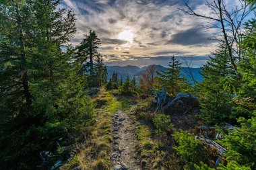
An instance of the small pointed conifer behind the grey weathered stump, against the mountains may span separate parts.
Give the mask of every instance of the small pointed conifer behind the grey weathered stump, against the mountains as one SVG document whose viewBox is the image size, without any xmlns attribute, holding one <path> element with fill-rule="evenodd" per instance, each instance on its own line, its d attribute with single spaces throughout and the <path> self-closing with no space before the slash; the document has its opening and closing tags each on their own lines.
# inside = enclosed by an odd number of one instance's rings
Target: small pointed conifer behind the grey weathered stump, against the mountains
<svg viewBox="0 0 256 170">
<path fill-rule="evenodd" d="M 165 71 L 157 72 L 157 81 L 160 85 L 164 85 L 171 95 L 176 95 L 183 88 L 184 79 L 181 75 L 181 62 L 176 60 L 174 56 L 170 58 L 168 68 Z"/>
</svg>

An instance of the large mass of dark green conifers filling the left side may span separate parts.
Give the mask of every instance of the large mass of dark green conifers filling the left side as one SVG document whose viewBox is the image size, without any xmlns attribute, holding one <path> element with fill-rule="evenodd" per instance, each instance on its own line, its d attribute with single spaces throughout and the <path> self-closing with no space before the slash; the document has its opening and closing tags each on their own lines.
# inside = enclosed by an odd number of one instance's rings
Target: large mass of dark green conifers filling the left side
<svg viewBox="0 0 256 170">
<path fill-rule="evenodd" d="M 0 169 L 51 169 L 93 117 L 68 45 L 75 15 L 59 4 L 1 1 Z M 42 151 L 56 157 L 43 163 Z"/>
</svg>

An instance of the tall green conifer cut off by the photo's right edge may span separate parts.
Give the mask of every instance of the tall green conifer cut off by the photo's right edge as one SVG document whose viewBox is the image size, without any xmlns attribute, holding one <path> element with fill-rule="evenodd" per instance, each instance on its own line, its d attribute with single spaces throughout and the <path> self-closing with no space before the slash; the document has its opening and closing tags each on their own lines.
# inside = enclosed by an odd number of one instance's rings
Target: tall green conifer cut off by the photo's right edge
<svg viewBox="0 0 256 170">
<path fill-rule="evenodd" d="M 234 114 L 251 118 L 256 110 L 256 20 L 245 24 L 246 34 L 243 35 L 241 46 L 245 50 L 245 60 L 238 65 L 238 74 L 241 76 L 241 85 L 236 89 L 236 108 Z M 232 81 L 231 83 L 234 83 Z"/>
</svg>

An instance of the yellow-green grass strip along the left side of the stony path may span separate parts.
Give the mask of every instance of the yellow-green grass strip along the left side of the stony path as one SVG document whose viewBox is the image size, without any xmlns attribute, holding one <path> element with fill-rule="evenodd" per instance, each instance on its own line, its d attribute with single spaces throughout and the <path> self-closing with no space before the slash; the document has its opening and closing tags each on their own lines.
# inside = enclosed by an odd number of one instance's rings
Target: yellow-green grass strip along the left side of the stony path
<svg viewBox="0 0 256 170">
<path fill-rule="evenodd" d="M 105 170 L 110 169 L 110 152 L 113 138 L 112 117 L 121 108 L 121 103 L 113 97 L 109 91 L 101 89 L 98 97 L 93 99 L 96 109 L 94 123 L 86 128 L 88 135 L 85 136 L 86 147 L 82 148 L 69 163 L 61 169 Z"/>
</svg>

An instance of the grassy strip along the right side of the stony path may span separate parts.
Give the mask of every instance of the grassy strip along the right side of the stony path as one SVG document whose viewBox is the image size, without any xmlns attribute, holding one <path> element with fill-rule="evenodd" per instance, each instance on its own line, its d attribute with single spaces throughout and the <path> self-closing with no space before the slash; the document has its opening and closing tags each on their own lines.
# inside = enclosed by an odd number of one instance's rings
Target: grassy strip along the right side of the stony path
<svg viewBox="0 0 256 170">
<path fill-rule="evenodd" d="M 130 117 L 137 122 L 135 134 L 139 140 L 141 166 L 147 169 L 182 169 L 177 155 L 172 153 L 172 142 L 167 140 L 168 136 L 161 136 L 154 130 L 151 103 L 150 98 L 139 99 L 129 110 Z"/>
</svg>

